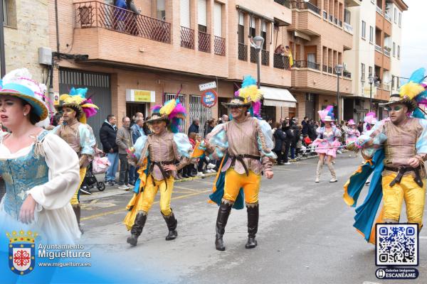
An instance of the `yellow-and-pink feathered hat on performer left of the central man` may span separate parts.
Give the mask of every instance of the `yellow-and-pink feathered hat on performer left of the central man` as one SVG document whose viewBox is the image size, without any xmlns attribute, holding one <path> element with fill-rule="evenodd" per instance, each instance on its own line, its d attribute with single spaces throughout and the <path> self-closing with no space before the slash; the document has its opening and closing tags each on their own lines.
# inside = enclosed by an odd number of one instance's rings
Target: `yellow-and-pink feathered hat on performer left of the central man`
<svg viewBox="0 0 427 284">
<path fill-rule="evenodd" d="M 152 107 L 152 116 L 144 122 L 152 124 L 154 121 L 167 121 L 168 129 L 173 133 L 178 133 L 181 129 L 181 120 L 186 116 L 185 107 L 178 99 L 179 92 L 174 99 L 169 99 L 163 106 Z"/>
</svg>

